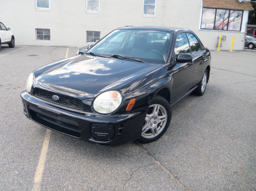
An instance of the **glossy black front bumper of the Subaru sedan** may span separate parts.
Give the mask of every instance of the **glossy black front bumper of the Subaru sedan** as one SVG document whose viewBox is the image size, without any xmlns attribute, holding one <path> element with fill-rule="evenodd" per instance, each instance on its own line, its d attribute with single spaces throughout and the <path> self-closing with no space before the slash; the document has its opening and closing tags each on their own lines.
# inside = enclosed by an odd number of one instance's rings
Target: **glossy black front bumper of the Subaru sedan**
<svg viewBox="0 0 256 191">
<path fill-rule="evenodd" d="M 20 96 L 24 114 L 32 121 L 103 146 L 117 146 L 138 139 L 147 110 L 143 108 L 132 113 L 102 115 L 53 104 L 26 91 Z"/>
</svg>

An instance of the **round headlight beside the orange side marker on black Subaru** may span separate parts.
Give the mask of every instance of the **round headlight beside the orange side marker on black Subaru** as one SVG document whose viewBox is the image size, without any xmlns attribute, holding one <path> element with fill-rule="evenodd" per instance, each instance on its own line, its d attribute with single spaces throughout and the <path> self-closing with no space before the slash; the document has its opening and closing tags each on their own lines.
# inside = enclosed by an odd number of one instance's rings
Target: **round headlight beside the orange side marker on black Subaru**
<svg viewBox="0 0 256 191">
<path fill-rule="evenodd" d="M 98 113 L 109 114 L 116 111 L 121 103 L 122 95 L 118 91 L 106 91 L 95 98 L 93 108 Z"/>
</svg>

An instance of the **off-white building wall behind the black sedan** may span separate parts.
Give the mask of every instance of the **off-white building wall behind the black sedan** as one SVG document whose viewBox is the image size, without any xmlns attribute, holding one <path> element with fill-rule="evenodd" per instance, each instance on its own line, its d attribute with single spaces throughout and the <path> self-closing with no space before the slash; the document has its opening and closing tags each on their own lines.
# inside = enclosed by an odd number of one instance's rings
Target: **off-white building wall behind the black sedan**
<svg viewBox="0 0 256 191">
<path fill-rule="evenodd" d="M 12 10 L 12 11 L 10 11 Z M 199 30 L 202 0 L 157 0 L 156 16 L 143 16 L 143 0 L 101 0 L 100 12 L 86 12 L 86 0 L 51 0 L 50 11 L 36 10 L 35 1 L 0 0 L 0 20 L 12 29 L 17 45 L 84 46 L 86 31 L 100 37 L 122 26 L 169 26 L 193 30 L 202 43 L 216 49 L 218 35 L 226 35 L 221 49 L 243 49 L 248 11 L 242 32 Z M 50 29 L 50 41 L 37 41 L 36 28 Z"/>
</svg>

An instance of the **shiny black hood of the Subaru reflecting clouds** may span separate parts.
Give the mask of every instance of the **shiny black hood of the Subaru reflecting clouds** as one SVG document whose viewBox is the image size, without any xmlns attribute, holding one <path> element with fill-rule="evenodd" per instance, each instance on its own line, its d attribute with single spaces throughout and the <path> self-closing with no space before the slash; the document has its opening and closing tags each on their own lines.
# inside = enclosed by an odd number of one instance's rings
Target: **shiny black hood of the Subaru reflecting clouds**
<svg viewBox="0 0 256 191">
<path fill-rule="evenodd" d="M 160 66 L 81 55 L 39 75 L 34 86 L 80 99 L 94 98 L 107 90 L 119 90 Z"/>
</svg>

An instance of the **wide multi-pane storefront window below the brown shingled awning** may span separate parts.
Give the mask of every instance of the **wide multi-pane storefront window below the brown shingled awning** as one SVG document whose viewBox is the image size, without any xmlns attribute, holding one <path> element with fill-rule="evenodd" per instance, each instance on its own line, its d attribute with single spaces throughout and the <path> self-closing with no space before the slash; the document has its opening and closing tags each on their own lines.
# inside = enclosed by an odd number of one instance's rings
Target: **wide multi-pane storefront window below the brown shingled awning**
<svg viewBox="0 0 256 191">
<path fill-rule="evenodd" d="M 241 31 L 243 11 L 203 8 L 201 29 Z"/>
</svg>

